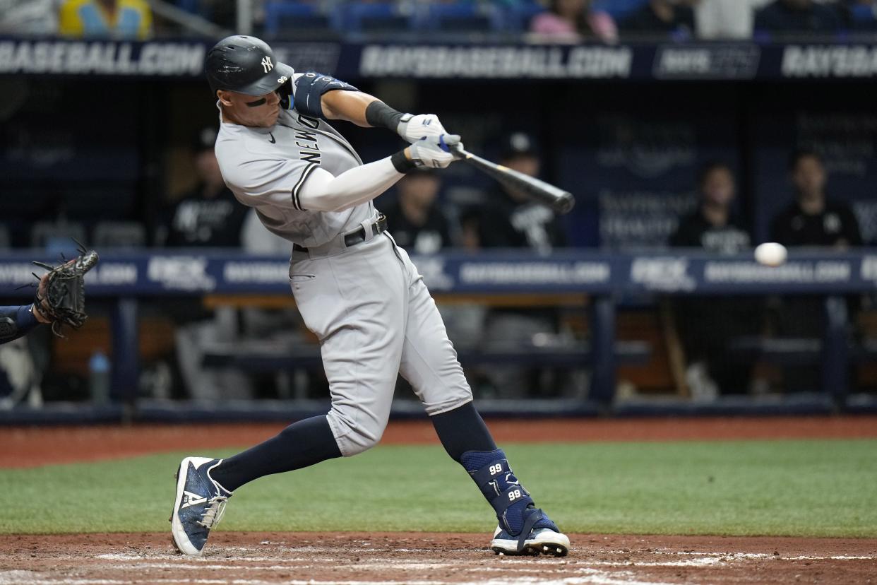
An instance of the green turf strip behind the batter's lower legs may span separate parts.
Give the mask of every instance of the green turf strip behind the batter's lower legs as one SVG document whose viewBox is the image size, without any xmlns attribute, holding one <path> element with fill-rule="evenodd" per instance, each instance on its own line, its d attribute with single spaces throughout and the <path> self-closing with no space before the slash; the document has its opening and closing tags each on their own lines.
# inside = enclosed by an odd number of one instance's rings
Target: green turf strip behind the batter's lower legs
<svg viewBox="0 0 877 585">
<path fill-rule="evenodd" d="M 570 532 L 877 537 L 877 440 L 511 445 Z M 217 453 L 217 454 L 230 454 Z M 0 533 L 165 531 L 180 454 L 0 470 Z M 262 478 L 226 531 L 490 531 L 438 446 L 381 446 Z"/>
</svg>

